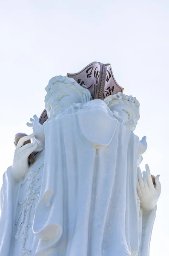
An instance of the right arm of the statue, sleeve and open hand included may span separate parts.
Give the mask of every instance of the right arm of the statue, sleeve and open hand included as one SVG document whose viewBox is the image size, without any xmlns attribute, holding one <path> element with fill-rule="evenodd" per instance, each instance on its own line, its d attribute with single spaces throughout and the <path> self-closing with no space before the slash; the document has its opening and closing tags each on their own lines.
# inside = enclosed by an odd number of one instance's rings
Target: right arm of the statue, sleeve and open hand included
<svg viewBox="0 0 169 256">
<path fill-rule="evenodd" d="M 149 246 L 152 235 L 152 228 L 155 221 L 157 201 L 160 196 L 159 175 L 155 177 L 155 185 L 149 166 L 146 165 L 146 171 L 137 170 L 137 194 L 140 199 L 140 221 L 139 221 L 139 256 L 149 256 Z"/>
</svg>

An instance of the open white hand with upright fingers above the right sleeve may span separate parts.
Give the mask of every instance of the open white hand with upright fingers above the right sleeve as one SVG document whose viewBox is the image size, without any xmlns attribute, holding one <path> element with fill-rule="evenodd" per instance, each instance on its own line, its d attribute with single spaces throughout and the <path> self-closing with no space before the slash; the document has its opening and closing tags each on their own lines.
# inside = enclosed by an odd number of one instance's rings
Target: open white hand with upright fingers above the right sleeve
<svg viewBox="0 0 169 256">
<path fill-rule="evenodd" d="M 143 172 L 143 177 L 140 168 L 137 169 L 137 194 L 140 199 L 140 206 L 146 211 L 151 211 L 155 208 L 161 192 L 159 176 L 155 177 L 155 186 L 152 182 L 149 166 L 146 164 L 146 171 Z"/>
</svg>

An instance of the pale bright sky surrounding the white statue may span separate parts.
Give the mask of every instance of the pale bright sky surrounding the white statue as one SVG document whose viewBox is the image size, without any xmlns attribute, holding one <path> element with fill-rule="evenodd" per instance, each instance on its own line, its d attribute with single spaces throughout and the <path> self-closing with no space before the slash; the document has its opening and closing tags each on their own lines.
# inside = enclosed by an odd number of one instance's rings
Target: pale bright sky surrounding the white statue
<svg viewBox="0 0 169 256">
<path fill-rule="evenodd" d="M 168 48 L 168 0 L 0 0 L 0 185 L 15 134 L 32 133 L 26 122 L 44 109 L 49 79 L 109 62 L 124 93 L 140 102 L 143 164 L 162 185 L 150 256 L 168 255 Z"/>
</svg>

